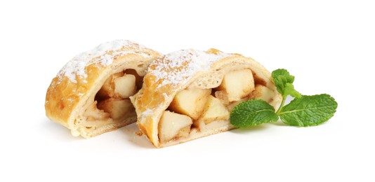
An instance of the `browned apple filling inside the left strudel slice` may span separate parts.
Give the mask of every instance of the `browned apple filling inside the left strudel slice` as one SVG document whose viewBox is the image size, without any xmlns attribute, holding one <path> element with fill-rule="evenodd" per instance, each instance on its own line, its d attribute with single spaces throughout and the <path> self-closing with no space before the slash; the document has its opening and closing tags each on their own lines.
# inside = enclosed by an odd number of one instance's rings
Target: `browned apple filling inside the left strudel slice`
<svg viewBox="0 0 375 182">
<path fill-rule="evenodd" d="M 142 81 L 143 77 L 139 76 L 134 69 L 112 74 L 105 80 L 94 102 L 86 109 L 82 117 L 86 118 L 87 122 L 82 122 L 81 125 L 86 129 L 111 124 L 121 125 L 126 118 L 136 116 L 129 97 L 136 94 L 142 86 Z"/>
</svg>

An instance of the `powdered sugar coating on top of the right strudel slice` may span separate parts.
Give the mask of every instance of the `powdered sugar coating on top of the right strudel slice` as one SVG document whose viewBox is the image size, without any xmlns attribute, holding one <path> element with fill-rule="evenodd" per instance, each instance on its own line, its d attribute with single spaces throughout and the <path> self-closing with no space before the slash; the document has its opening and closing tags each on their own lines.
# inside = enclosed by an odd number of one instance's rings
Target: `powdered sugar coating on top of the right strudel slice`
<svg viewBox="0 0 375 182">
<path fill-rule="evenodd" d="M 171 52 L 161 62 L 157 62 L 154 70 L 150 70 L 157 80 L 163 79 L 159 85 L 178 85 L 195 75 L 198 71 L 208 70 L 214 62 L 231 54 L 220 52 L 218 55 L 209 54 L 202 50 L 178 50 Z"/>
</svg>

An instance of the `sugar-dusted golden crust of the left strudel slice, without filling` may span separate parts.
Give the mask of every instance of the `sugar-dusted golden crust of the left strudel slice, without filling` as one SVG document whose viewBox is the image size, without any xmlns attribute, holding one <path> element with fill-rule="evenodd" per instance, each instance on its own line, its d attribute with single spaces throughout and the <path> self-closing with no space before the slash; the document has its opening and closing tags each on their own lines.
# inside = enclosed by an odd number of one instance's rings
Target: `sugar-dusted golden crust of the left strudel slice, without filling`
<svg viewBox="0 0 375 182">
<path fill-rule="evenodd" d="M 95 56 L 93 56 L 95 55 Z M 134 69 L 140 76 L 145 75 L 148 64 L 159 56 L 158 52 L 131 41 L 112 41 L 83 52 L 53 78 L 46 93 L 46 116 L 72 131 L 74 136 L 93 137 L 103 132 L 115 130 L 135 120 L 126 118 L 124 122 L 103 126 L 98 130 L 80 130 L 77 117 L 82 114 L 100 90 L 105 80 L 118 71 Z M 83 65 L 82 65 L 83 64 Z"/>
</svg>

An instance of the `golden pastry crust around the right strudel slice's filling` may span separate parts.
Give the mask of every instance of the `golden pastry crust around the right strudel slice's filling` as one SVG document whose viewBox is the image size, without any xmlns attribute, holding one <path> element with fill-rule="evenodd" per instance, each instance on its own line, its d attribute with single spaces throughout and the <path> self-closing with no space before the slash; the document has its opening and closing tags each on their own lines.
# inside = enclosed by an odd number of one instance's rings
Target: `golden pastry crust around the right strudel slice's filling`
<svg viewBox="0 0 375 182">
<path fill-rule="evenodd" d="M 237 69 L 251 69 L 258 83 L 275 91 L 270 104 L 277 106 L 281 96 L 276 91 L 271 74 L 261 64 L 249 57 L 239 54 L 226 54 L 211 49 L 206 52 L 199 50 L 180 50 L 164 57 L 159 57 L 150 64 L 144 78 L 143 88 L 131 97 L 131 102 L 138 115 L 138 127 L 146 134 L 152 144 L 157 147 L 179 144 L 199 137 L 204 137 L 234 128 L 228 120 L 206 131 L 192 130 L 189 137 L 169 141 L 166 144 L 159 142 L 157 125 L 173 97 L 186 87 L 202 89 L 218 87 L 223 76 L 228 71 Z"/>
</svg>

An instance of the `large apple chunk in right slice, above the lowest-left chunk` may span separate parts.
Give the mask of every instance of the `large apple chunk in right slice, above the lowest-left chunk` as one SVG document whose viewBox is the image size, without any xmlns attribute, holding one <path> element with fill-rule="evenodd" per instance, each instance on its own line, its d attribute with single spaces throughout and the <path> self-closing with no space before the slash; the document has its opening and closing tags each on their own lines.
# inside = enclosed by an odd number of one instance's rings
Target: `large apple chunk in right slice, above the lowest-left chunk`
<svg viewBox="0 0 375 182">
<path fill-rule="evenodd" d="M 211 89 L 190 88 L 176 94 L 169 109 L 197 120 L 202 114 Z"/>
</svg>

